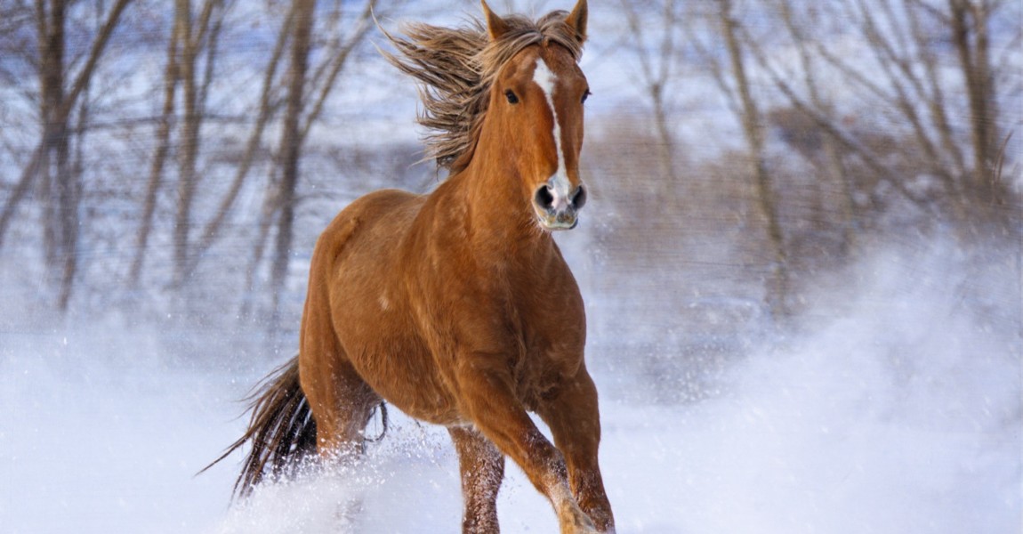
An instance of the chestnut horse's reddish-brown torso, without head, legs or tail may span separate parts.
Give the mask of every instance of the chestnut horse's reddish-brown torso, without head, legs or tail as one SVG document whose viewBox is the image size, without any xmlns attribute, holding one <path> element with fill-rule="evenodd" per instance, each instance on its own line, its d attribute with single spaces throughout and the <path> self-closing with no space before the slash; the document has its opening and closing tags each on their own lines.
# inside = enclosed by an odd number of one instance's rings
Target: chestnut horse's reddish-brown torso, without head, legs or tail
<svg viewBox="0 0 1023 534">
<path fill-rule="evenodd" d="M 458 402 L 463 355 L 506 372 L 532 410 L 579 371 L 582 299 L 557 244 L 528 224 L 500 234 L 476 224 L 458 184 L 474 180 L 488 181 L 466 171 L 430 197 L 379 191 L 335 219 L 313 256 L 303 368 L 350 364 L 392 405 L 446 426 L 473 420 Z M 337 345 L 322 347 L 324 338 Z M 302 379 L 307 392 L 335 389 L 329 374 Z M 314 413 L 326 411 L 309 396 Z"/>
</svg>

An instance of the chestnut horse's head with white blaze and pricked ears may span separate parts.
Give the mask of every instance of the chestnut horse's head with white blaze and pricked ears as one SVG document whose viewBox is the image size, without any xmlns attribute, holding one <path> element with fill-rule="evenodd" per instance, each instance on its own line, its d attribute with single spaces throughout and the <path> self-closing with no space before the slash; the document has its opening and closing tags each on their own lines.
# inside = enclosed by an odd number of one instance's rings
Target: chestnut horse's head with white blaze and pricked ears
<svg viewBox="0 0 1023 534">
<path fill-rule="evenodd" d="M 514 24 L 483 2 L 492 43 L 514 41 Z M 545 230 L 574 228 L 586 203 L 579 177 L 583 141 L 583 102 L 589 95 L 577 64 L 586 38 L 586 0 L 570 13 L 557 13 L 564 25 L 555 35 L 530 44 L 504 60 L 490 90 L 484 136 L 508 154 L 521 192 Z M 487 129 L 493 129 L 486 132 Z M 489 133 L 489 135 L 488 135 Z"/>
</svg>

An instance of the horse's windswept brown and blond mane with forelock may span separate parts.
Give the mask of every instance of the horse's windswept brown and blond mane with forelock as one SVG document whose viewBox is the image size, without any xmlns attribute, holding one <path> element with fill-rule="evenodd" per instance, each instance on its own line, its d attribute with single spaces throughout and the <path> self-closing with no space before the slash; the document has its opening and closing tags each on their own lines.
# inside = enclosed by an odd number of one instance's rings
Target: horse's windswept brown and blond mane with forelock
<svg viewBox="0 0 1023 534">
<path fill-rule="evenodd" d="M 536 21 L 507 16 L 508 31 L 493 41 L 479 19 L 462 28 L 409 24 L 402 30 L 404 38 L 385 32 L 402 56 L 383 52 L 384 56 L 420 84 L 424 107 L 417 122 L 430 131 L 424 138 L 424 160 L 435 160 L 438 168 L 450 174 L 469 165 L 493 80 L 523 48 L 554 43 L 579 60 L 584 36 L 566 24 L 567 15 L 567 11 L 552 11 Z"/>
</svg>

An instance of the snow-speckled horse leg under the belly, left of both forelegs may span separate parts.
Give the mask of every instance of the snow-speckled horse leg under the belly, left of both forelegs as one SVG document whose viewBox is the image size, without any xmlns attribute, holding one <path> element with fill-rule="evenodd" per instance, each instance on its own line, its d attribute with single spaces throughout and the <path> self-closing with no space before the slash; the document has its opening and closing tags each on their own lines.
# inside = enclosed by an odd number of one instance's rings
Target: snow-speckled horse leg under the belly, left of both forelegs
<svg viewBox="0 0 1023 534">
<path fill-rule="evenodd" d="M 475 430 L 448 428 L 461 472 L 461 493 L 464 513 L 462 534 L 499 532 L 497 526 L 497 490 L 504 478 L 504 455 Z"/>
</svg>

